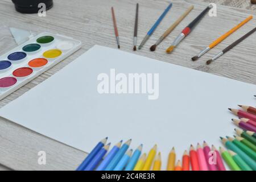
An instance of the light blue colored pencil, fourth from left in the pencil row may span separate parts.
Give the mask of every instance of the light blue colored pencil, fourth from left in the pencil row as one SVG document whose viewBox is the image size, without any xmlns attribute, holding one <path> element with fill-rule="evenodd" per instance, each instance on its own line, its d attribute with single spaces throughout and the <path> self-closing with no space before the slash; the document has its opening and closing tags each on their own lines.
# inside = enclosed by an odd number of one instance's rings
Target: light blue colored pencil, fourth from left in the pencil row
<svg viewBox="0 0 256 182">
<path fill-rule="evenodd" d="M 112 161 L 109 163 L 109 165 L 106 167 L 105 171 L 112 171 L 115 166 L 117 166 L 117 163 L 119 162 L 119 160 L 121 160 L 122 156 L 125 155 L 125 152 L 127 151 L 127 149 L 129 148 L 131 144 L 131 139 L 128 140 L 127 142 L 125 142 L 122 147 L 120 148 L 120 150 L 117 152 L 117 154 L 114 156 L 114 158 L 112 159 Z"/>
</svg>

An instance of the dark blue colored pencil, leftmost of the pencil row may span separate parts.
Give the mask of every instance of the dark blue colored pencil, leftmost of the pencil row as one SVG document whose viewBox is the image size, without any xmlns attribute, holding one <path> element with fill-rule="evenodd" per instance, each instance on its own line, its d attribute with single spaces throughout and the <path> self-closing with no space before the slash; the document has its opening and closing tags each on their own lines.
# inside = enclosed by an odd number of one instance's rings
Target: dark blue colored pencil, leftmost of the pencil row
<svg viewBox="0 0 256 182">
<path fill-rule="evenodd" d="M 84 170 L 88 164 L 92 161 L 94 156 L 101 150 L 101 148 L 106 144 L 106 141 L 108 140 L 108 137 L 102 139 L 98 144 L 93 148 L 92 151 L 90 151 L 90 154 L 85 158 L 85 160 L 80 164 L 80 166 L 76 169 L 76 171 L 82 171 Z"/>
</svg>

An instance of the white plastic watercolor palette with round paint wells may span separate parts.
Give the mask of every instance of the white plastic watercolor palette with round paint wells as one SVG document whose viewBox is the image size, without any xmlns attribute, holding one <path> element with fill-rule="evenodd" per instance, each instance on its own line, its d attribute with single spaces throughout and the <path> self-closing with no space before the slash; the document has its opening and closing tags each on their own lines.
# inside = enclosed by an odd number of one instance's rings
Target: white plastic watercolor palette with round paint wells
<svg viewBox="0 0 256 182">
<path fill-rule="evenodd" d="M 0 100 L 81 48 L 81 42 L 44 32 L 0 56 Z"/>
</svg>

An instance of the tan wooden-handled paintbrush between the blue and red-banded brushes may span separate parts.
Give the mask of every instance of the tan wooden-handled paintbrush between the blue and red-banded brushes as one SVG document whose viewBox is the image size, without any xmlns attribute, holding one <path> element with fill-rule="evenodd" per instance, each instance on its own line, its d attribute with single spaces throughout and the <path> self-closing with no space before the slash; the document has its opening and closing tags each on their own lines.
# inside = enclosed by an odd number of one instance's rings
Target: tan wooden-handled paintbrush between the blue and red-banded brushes
<svg viewBox="0 0 256 182">
<path fill-rule="evenodd" d="M 194 6 L 190 6 L 183 15 L 181 15 L 174 24 L 172 24 L 164 33 L 162 36 L 160 36 L 160 38 L 158 39 L 158 41 L 156 41 L 156 43 L 150 47 L 150 51 L 155 51 L 156 47 L 169 35 L 171 34 L 171 32 L 174 30 L 174 28 L 176 28 L 180 22 L 193 10 Z"/>
</svg>

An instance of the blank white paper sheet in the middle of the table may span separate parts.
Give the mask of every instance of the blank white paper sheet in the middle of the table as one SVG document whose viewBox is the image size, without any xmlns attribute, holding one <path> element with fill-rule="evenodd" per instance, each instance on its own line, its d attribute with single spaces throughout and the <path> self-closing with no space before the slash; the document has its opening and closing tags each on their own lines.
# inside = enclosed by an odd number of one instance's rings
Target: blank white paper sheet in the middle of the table
<svg viewBox="0 0 256 182">
<path fill-rule="evenodd" d="M 170 56 L 171 57 L 171 56 Z M 159 97 L 100 94 L 98 75 L 158 73 Z M 118 82 L 118 81 L 117 81 Z M 162 152 L 163 169 L 174 146 L 177 159 L 203 140 L 222 146 L 233 136 L 228 107 L 255 105 L 256 86 L 117 49 L 94 46 L 52 77 L 0 109 L 0 115 L 52 139 L 89 152 L 109 137 L 112 146 L 132 138 Z"/>
</svg>

